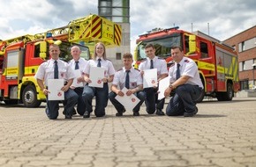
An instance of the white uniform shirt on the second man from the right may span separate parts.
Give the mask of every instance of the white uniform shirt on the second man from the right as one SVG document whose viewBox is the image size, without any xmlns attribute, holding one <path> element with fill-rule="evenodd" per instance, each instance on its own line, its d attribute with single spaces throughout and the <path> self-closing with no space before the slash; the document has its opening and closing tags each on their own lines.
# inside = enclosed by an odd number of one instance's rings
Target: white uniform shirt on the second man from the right
<svg viewBox="0 0 256 167">
<path fill-rule="evenodd" d="M 154 69 L 157 69 L 157 78 L 162 74 L 168 74 L 167 64 L 164 59 L 154 56 L 153 59 Z M 139 70 L 143 71 L 150 69 L 150 59 L 147 57 L 146 61 L 140 62 Z"/>
</svg>

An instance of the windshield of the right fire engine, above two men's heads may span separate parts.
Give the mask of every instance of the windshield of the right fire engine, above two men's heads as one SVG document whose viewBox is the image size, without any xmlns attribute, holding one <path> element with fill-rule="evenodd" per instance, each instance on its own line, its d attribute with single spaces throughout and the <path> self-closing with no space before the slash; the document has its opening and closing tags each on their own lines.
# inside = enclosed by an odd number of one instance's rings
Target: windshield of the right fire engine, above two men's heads
<svg viewBox="0 0 256 167">
<path fill-rule="evenodd" d="M 175 34 L 172 36 L 168 36 L 166 38 L 155 38 L 153 40 L 142 41 L 137 50 L 138 60 L 142 60 L 147 58 L 147 54 L 145 53 L 145 46 L 148 43 L 154 44 L 155 55 L 166 58 L 170 55 L 170 48 L 174 46 L 181 46 L 181 36 L 180 34 Z"/>
</svg>

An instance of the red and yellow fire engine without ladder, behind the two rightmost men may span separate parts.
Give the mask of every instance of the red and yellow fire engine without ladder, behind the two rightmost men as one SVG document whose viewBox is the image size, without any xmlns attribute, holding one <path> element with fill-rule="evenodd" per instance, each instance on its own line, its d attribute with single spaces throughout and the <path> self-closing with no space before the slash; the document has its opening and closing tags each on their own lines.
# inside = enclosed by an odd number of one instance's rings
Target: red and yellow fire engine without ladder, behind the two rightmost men
<svg viewBox="0 0 256 167">
<path fill-rule="evenodd" d="M 204 84 L 204 96 L 229 101 L 239 91 L 237 53 L 215 38 L 205 33 L 189 33 L 178 27 L 157 29 L 157 31 L 139 35 L 134 53 L 134 67 L 147 58 L 145 46 L 153 43 L 155 54 L 164 58 L 168 67 L 173 63 L 170 48 L 179 46 L 184 55 L 192 58 L 198 65 L 200 78 Z M 204 96 L 198 101 L 202 101 Z"/>
</svg>

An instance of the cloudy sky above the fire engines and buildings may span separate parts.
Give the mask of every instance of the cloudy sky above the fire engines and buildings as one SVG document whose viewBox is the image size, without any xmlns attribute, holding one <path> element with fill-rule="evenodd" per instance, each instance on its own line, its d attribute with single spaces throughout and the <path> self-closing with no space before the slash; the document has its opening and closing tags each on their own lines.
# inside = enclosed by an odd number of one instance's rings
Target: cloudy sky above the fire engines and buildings
<svg viewBox="0 0 256 167">
<path fill-rule="evenodd" d="M 0 6 L 0 40 L 98 13 L 98 0 L 0 0 Z M 256 25 L 255 9 L 255 0 L 130 0 L 131 52 L 139 34 L 154 28 L 179 26 L 227 40 Z"/>
</svg>

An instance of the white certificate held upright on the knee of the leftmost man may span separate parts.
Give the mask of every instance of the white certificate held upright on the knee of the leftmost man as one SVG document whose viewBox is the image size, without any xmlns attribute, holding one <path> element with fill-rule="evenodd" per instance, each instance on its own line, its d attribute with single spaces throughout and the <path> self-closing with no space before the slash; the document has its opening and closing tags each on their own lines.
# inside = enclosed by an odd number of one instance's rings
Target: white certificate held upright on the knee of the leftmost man
<svg viewBox="0 0 256 167">
<path fill-rule="evenodd" d="M 48 80 L 48 100 L 64 100 L 64 91 L 61 88 L 64 86 L 64 79 L 49 79 Z"/>
</svg>

